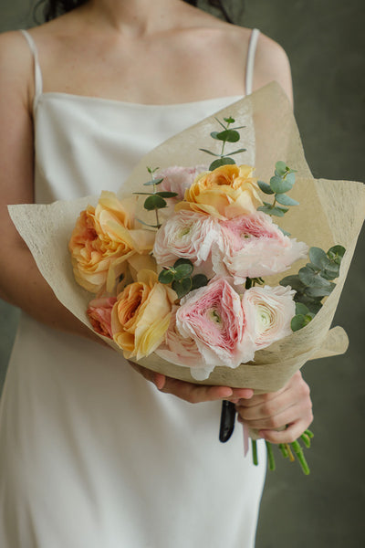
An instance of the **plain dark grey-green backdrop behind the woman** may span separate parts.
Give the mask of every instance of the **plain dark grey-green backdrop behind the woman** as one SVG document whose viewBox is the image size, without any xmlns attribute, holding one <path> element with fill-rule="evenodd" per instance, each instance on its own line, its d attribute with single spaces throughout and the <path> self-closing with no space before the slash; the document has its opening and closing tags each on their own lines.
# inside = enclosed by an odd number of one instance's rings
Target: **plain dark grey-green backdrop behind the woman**
<svg viewBox="0 0 365 548">
<path fill-rule="evenodd" d="M 297 123 L 313 174 L 364 181 L 363 0 L 247 0 L 244 12 L 242 0 L 225 4 L 240 24 L 258 27 L 286 49 Z M 1 0 L 0 31 L 33 25 L 29 5 L 31 0 Z M 276 458 L 276 472 L 266 481 L 256 548 L 363 545 L 364 243 L 363 234 L 334 321 L 349 333 L 349 351 L 304 368 L 315 412 L 315 439 L 307 453 L 311 475 Z M 17 315 L 0 301 L 0 380 Z"/>
</svg>

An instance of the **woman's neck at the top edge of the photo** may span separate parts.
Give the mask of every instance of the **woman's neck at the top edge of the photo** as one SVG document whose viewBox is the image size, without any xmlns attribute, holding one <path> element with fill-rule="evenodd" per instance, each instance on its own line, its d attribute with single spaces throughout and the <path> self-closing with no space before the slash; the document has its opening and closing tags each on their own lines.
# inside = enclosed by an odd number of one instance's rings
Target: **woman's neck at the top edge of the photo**
<svg viewBox="0 0 365 548">
<path fill-rule="evenodd" d="M 126 36 L 142 36 L 168 26 L 184 6 L 181 0 L 89 0 L 85 10 L 98 25 Z"/>
</svg>

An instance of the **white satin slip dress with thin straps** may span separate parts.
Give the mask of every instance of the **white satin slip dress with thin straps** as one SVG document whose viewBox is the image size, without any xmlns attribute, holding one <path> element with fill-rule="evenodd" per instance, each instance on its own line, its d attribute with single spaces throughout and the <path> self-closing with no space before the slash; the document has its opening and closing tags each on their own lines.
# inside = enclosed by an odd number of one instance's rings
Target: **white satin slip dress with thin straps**
<svg viewBox="0 0 365 548">
<path fill-rule="evenodd" d="M 26 38 L 38 203 L 118 190 L 144 153 L 237 99 L 43 93 Z M 252 547 L 266 458 L 244 457 L 240 427 L 218 441 L 220 411 L 162 394 L 120 355 L 23 313 L 1 404 L 0 546 Z"/>
</svg>

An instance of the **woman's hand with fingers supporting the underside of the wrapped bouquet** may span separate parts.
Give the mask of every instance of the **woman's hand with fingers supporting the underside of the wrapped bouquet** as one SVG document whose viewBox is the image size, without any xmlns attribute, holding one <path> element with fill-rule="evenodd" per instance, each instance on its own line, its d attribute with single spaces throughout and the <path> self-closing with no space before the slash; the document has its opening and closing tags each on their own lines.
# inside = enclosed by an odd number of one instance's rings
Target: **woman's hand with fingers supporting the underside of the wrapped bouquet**
<svg viewBox="0 0 365 548">
<path fill-rule="evenodd" d="M 161 392 L 176 395 L 191 404 L 224 399 L 239 400 L 240 402 L 243 402 L 246 398 L 250 398 L 254 395 L 254 391 L 251 390 L 251 388 L 193 385 L 193 383 L 179 381 L 178 379 L 172 379 L 164 374 L 155 373 L 145 367 L 141 367 L 141 365 L 133 364 L 132 362 L 129 363 L 133 369 L 140 373 L 145 379 L 151 381 L 151 383 L 153 383 Z"/>
</svg>

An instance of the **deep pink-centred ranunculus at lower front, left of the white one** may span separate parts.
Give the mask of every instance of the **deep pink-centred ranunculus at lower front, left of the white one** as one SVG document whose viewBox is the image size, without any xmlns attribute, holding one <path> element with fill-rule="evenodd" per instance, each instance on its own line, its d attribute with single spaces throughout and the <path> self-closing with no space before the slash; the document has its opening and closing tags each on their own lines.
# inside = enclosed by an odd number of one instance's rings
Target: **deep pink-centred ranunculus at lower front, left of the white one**
<svg viewBox="0 0 365 548">
<path fill-rule="evenodd" d="M 207 375 L 216 365 L 235 368 L 254 358 L 253 343 L 245 333 L 240 296 L 227 279 L 213 279 L 188 293 L 176 312 L 176 326 L 184 337 L 196 342 Z"/>
</svg>

